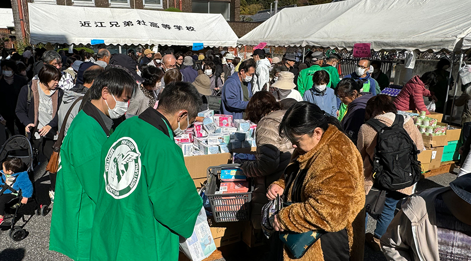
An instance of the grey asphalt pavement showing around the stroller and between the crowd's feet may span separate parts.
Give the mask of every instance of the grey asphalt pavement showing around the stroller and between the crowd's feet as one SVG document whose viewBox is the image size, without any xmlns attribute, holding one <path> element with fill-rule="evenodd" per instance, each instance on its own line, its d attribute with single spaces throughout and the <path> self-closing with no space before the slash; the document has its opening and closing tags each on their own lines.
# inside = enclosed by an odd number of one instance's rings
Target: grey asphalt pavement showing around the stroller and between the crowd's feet
<svg viewBox="0 0 471 261">
<path fill-rule="evenodd" d="M 49 208 L 52 208 L 53 204 L 49 199 L 48 191 L 50 188 L 49 176 L 45 175 L 45 159 L 42 160 L 42 164 L 35 168 L 35 185 L 37 186 L 38 200 L 40 204 L 48 204 Z M 457 170 L 455 169 L 455 172 Z M 422 179 L 416 186 L 416 191 L 422 191 L 428 188 L 447 186 L 449 182 L 453 181 L 456 175 L 453 173 L 445 173 L 435 177 Z M 66 255 L 49 250 L 49 232 L 51 224 L 51 214 L 46 216 L 38 216 L 34 213 L 34 203 L 30 202 L 26 206 L 22 207 L 20 214 L 24 215 L 26 223 L 23 220 L 17 222 L 18 226 L 22 226 L 27 230 L 27 236 L 22 241 L 16 242 L 10 238 L 10 230 L 6 230 L 2 227 L 0 230 L 0 260 L 2 261 L 38 261 L 38 260 L 72 260 Z M 369 217 L 368 225 L 366 228 L 367 232 L 373 232 L 376 221 Z M 241 242 L 242 243 L 242 242 Z M 243 244 L 243 243 L 242 243 Z M 246 260 L 257 260 L 261 261 L 265 259 L 266 252 L 254 253 L 247 247 L 247 252 L 251 252 L 247 255 L 241 255 L 239 252 L 234 256 L 224 256 L 219 261 L 246 261 Z M 249 257 L 249 258 L 247 258 Z M 374 252 L 368 246 L 365 246 L 365 261 L 385 261 L 381 252 Z"/>
</svg>

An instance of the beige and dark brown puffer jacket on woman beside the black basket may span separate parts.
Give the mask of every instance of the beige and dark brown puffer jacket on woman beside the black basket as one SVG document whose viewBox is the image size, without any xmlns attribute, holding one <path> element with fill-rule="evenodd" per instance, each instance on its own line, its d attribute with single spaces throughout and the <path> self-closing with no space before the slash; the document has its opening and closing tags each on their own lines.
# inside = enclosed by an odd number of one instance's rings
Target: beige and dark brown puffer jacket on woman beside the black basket
<svg viewBox="0 0 471 261">
<path fill-rule="evenodd" d="M 267 188 L 280 179 L 290 163 L 294 149 L 287 138 L 281 138 L 278 127 L 286 110 L 277 110 L 263 117 L 257 124 L 257 160 L 246 161 L 242 170 L 247 177 L 254 178 L 255 190 L 252 194 L 252 224 L 260 229 L 262 207 L 268 203 Z"/>
</svg>

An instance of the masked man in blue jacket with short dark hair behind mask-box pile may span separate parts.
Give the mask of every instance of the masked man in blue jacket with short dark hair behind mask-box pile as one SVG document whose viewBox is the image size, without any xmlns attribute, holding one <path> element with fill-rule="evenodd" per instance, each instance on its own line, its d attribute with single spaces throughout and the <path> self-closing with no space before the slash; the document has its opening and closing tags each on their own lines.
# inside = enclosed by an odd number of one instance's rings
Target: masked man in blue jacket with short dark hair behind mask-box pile
<svg viewBox="0 0 471 261">
<path fill-rule="evenodd" d="M 257 64 L 254 59 L 241 63 L 237 74 L 232 74 L 222 87 L 221 109 L 222 114 L 232 115 L 233 119 L 244 118 L 244 112 L 252 97 L 250 81 L 255 73 Z"/>
</svg>

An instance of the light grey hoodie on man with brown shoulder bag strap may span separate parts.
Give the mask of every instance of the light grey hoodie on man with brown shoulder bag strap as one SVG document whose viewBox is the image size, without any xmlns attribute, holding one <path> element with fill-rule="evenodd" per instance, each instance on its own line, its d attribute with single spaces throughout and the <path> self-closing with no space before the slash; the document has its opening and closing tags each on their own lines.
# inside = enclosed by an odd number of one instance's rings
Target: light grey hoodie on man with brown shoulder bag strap
<svg viewBox="0 0 471 261">
<path fill-rule="evenodd" d="M 64 122 L 64 118 L 67 114 L 67 111 L 69 110 L 70 106 L 72 106 L 72 103 L 79 98 L 83 97 L 85 93 L 88 91 L 88 88 L 83 86 L 80 83 L 77 83 L 72 89 L 64 91 L 64 96 L 62 98 L 62 104 L 59 107 L 58 111 L 58 118 L 59 118 L 59 124 L 58 124 L 58 129 L 59 131 L 61 130 L 62 123 Z M 69 119 L 66 122 L 66 128 L 64 132 L 64 136 L 67 134 L 67 130 L 69 129 L 70 123 L 72 123 L 72 120 L 77 116 L 77 113 L 79 113 L 79 107 L 82 101 L 77 102 L 77 104 L 74 106 L 72 111 L 70 112 Z"/>
</svg>

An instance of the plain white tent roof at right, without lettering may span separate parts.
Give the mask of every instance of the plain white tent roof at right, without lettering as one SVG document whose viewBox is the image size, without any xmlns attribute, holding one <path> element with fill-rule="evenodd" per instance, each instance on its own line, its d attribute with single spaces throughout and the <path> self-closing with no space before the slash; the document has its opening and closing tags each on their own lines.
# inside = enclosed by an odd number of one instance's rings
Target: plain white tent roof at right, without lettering
<svg viewBox="0 0 471 261">
<path fill-rule="evenodd" d="M 453 50 L 471 33 L 471 1 L 350 0 L 287 8 L 239 39 L 243 45 Z M 471 42 L 471 41 L 470 41 Z"/>
</svg>

